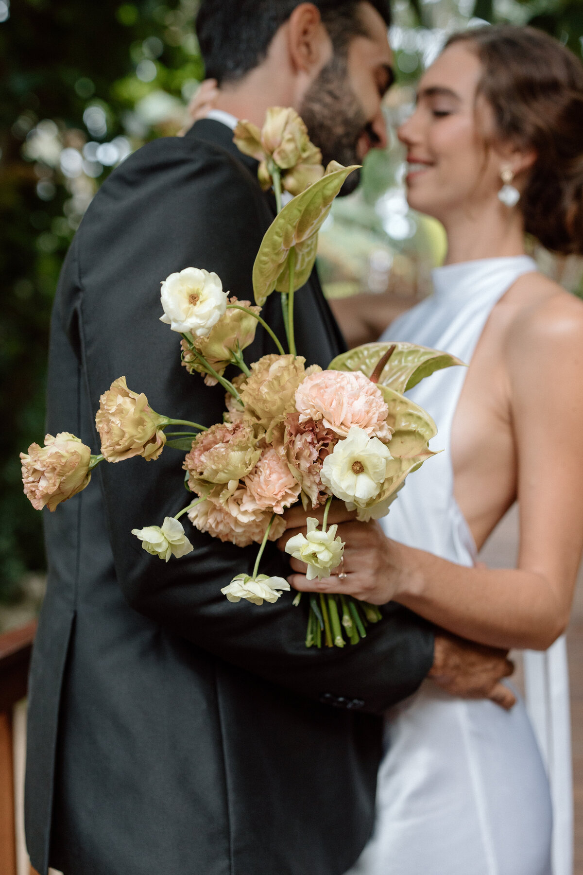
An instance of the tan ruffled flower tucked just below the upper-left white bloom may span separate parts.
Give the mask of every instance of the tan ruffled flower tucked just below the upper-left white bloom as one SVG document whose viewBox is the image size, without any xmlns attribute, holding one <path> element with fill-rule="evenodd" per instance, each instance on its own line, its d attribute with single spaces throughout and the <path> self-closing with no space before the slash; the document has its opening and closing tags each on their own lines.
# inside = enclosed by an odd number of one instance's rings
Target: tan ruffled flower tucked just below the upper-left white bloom
<svg viewBox="0 0 583 875">
<path fill-rule="evenodd" d="M 222 376 L 226 367 L 233 362 L 234 353 L 253 343 L 258 322 L 251 313 L 259 316 L 261 311 L 260 307 L 252 306 L 251 301 L 238 301 L 234 296 L 228 299 L 228 303 L 245 307 L 247 312 L 227 309 L 219 322 L 213 325 L 210 334 L 206 337 L 194 338 L 194 346 L 198 353 L 208 361 L 219 376 Z M 206 385 L 216 386 L 216 377 L 206 372 L 204 363 L 192 352 L 186 340 L 182 339 L 180 346 L 182 346 L 182 363 L 188 373 L 198 371 L 198 374 L 205 374 Z"/>
</svg>

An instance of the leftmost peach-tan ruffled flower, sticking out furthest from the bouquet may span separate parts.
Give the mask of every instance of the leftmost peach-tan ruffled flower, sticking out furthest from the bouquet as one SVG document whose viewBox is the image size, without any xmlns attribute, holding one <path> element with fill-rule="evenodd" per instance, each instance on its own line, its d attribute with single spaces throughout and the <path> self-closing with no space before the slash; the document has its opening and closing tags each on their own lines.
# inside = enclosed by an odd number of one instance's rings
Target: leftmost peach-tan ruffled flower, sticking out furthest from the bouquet
<svg viewBox="0 0 583 875">
<path fill-rule="evenodd" d="M 35 510 L 54 510 L 61 501 L 85 489 L 91 479 L 91 450 L 68 431 L 45 435 L 45 446 L 31 444 L 21 452 L 24 494 Z"/>
</svg>

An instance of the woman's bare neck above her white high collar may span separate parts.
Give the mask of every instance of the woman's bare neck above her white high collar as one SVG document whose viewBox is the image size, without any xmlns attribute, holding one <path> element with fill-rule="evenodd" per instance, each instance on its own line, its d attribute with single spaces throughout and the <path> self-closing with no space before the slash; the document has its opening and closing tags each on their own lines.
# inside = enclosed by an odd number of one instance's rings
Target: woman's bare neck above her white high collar
<svg viewBox="0 0 583 875">
<path fill-rule="evenodd" d="M 448 235 L 446 264 L 524 255 L 524 220 L 499 200 L 453 211 L 441 220 Z"/>
</svg>

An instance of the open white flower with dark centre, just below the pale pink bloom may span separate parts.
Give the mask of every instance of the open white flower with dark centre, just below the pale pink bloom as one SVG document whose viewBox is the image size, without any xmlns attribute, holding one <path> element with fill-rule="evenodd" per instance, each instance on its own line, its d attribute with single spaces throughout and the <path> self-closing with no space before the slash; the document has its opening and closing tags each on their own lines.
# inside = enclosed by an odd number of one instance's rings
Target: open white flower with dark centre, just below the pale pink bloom
<svg viewBox="0 0 583 875">
<path fill-rule="evenodd" d="M 364 507 L 380 492 L 392 456 L 378 437 L 352 426 L 323 461 L 321 478 L 337 498 Z"/>
</svg>

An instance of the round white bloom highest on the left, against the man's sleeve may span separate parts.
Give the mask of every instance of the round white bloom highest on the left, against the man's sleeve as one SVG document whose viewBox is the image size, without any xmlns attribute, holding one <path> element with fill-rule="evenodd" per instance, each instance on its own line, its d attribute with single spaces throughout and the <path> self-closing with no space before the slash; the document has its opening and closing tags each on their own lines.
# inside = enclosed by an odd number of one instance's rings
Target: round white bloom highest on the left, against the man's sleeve
<svg viewBox="0 0 583 875">
<path fill-rule="evenodd" d="M 160 300 L 164 311 L 160 321 L 172 331 L 206 337 L 225 314 L 227 295 L 217 274 L 184 268 L 163 280 Z"/>
</svg>

